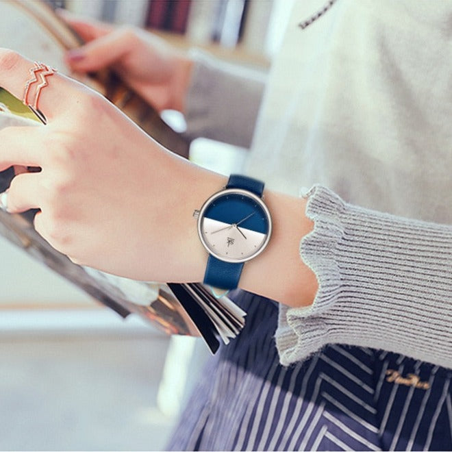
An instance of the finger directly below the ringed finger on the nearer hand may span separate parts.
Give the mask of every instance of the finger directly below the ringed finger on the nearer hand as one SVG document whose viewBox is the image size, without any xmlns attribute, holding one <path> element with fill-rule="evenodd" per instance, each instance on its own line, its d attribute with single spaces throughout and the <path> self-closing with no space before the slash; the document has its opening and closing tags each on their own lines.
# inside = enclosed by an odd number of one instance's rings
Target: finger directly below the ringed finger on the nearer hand
<svg viewBox="0 0 452 452">
<path fill-rule="evenodd" d="M 0 171 L 14 165 L 42 166 L 36 127 L 5 127 L 0 130 Z"/>
</svg>

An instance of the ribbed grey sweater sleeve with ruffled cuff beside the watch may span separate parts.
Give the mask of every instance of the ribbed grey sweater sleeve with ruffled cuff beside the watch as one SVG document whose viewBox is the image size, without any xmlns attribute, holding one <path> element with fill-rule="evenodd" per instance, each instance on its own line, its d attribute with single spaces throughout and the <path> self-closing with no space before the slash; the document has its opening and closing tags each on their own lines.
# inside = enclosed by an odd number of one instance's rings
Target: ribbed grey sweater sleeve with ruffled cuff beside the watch
<svg viewBox="0 0 452 452">
<path fill-rule="evenodd" d="M 310 307 L 280 307 L 281 364 L 336 343 L 452 368 L 452 227 L 359 208 L 322 186 L 306 196 L 314 229 L 300 253 L 318 293 Z"/>
</svg>

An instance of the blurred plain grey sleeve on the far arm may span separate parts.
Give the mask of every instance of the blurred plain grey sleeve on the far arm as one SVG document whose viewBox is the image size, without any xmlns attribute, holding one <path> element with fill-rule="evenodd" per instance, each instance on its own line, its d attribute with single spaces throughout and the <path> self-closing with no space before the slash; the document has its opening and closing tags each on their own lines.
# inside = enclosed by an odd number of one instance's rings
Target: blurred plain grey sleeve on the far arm
<svg viewBox="0 0 452 452">
<path fill-rule="evenodd" d="M 262 95 L 265 75 L 225 64 L 193 52 L 194 64 L 184 101 L 186 136 L 200 136 L 248 148 Z"/>
</svg>

